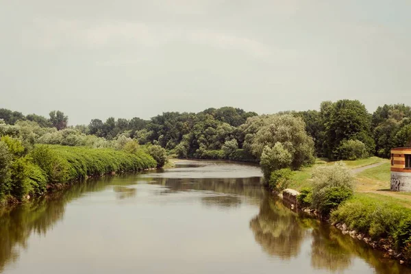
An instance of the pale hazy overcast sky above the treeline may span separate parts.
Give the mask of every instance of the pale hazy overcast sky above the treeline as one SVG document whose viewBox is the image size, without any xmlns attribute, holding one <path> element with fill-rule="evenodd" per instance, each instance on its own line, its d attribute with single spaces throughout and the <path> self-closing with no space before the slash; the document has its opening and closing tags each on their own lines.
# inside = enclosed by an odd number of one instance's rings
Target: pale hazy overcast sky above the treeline
<svg viewBox="0 0 411 274">
<path fill-rule="evenodd" d="M 411 105 L 408 0 L 0 0 L 0 108 L 69 124 Z"/>
</svg>

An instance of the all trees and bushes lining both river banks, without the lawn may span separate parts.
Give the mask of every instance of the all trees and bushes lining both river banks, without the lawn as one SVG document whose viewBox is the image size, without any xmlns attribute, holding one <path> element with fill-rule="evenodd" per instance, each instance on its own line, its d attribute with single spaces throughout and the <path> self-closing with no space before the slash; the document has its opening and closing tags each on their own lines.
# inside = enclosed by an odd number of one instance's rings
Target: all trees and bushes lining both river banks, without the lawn
<svg viewBox="0 0 411 274">
<path fill-rule="evenodd" d="M 319 111 L 258 116 L 224 107 L 197 114 L 164 112 L 149 121 L 92 119 L 89 125 L 72 127 L 63 112 L 53 111 L 49 116 L 0 110 L 1 199 L 24 200 L 55 184 L 91 175 L 161 167 L 166 151 L 178 158 L 259 162 L 264 183 L 281 191 L 292 184 L 296 171 L 312 166 L 316 156 L 329 160 L 388 158 L 391 148 L 411 145 L 409 106 L 384 105 L 370 114 L 356 100 L 325 101 Z M 371 197 L 360 199 L 345 166 L 320 167 L 307 185 L 300 199 L 308 206 L 370 236 L 393 237 L 397 249 L 409 252 L 411 226 L 402 218 L 406 209 L 393 203 L 382 205 L 381 210 L 377 200 L 374 204 Z M 352 205 L 364 209 L 354 221 L 347 214 Z M 376 214 L 379 219 L 374 218 Z M 388 214 L 394 220 L 389 229 L 382 223 Z M 374 223 L 366 221 L 370 219 Z"/>
</svg>

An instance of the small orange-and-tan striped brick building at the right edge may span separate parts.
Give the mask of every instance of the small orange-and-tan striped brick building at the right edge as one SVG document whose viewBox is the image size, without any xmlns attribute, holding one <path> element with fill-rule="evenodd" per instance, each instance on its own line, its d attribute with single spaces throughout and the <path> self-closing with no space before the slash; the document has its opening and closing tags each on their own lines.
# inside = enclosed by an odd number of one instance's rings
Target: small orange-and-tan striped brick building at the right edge
<svg viewBox="0 0 411 274">
<path fill-rule="evenodd" d="M 411 147 L 391 149 L 391 190 L 411 192 Z"/>
</svg>

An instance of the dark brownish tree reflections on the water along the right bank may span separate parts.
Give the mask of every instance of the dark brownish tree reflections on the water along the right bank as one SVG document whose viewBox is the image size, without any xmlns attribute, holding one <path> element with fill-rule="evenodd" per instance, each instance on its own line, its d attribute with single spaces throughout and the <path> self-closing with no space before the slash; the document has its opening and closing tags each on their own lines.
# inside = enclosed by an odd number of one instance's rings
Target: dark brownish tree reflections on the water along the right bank
<svg viewBox="0 0 411 274">
<path fill-rule="evenodd" d="M 249 225 L 262 249 L 269 256 L 282 260 L 296 258 L 303 252 L 310 254 L 313 269 L 328 273 L 342 273 L 349 269 L 354 258 L 362 258 L 375 273 L 411 273 L 410 269 L 384 259 L 379 251 L 343 235 L 335 227 L 292 212 L 271 195 L 262 199 L 260 212 Z M 307 237 L 312 238 L 311 245 L 301 250 Z"/>
</svg>

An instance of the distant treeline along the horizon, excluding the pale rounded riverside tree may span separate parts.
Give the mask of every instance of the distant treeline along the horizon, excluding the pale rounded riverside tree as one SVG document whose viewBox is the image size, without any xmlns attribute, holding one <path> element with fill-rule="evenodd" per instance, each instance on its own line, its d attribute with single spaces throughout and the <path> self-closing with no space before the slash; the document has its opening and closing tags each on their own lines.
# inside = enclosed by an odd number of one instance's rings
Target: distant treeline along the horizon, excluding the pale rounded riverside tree
<svg viewBox="0 0 411 274">
<path fill-rule="evenodd" d="M 277 114 L 290 114 L 303 120 L 319 157 L 352 158 L 347 154 L 355 149 L 356 153 L 388 158 L 391 148 L 411 145 L 411 108 L 404 104 L 379 106 L 370 114 L 360 101 L 324 101 L 320 110 Z M 130 120 L 110 117 L 105 122 L 92 119 L 89 125 L 74 127 L 67 127 L 68 117 L 63 112 L 53 111 L 49 116 L 24 116 L 21 112 L 0 109 L 0 119 L 6 124 L 42 127 L 36 136 L 36 142 L 40 143 L 113 147 L 115 144 L 108 142 L 131 138 L 140 145 L 160 145 L 182 158 L 244 160 L 258 158 L 249 145 L 261 121 L 269 115 L 223 107 L 208 108 L 197 114 L 164 112 L 148 121 L 138 117 Z M 34 121 L 38 125 L 18 121 Z"/>
</svg>

